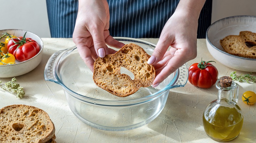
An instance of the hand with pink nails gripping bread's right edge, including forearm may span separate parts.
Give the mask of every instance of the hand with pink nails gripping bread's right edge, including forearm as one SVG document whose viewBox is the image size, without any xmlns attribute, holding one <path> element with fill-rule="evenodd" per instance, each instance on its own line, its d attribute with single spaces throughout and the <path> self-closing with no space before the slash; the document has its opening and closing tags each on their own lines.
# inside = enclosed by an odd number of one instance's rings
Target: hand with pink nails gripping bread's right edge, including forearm
<svg viewBox="0 0 256 143">
<path fill-rule="evenodd" d="M 148 64 L 156 68 L 153 87 L 157 87 L 171 73 L 197 56 L 198 17 L 202 8 L 194 15 L 181 9 L 177 7 L 165 24 L 156 48 L 148 60 Z M 171 47 L 167 51 L 169 46 Z"/>
</svg>

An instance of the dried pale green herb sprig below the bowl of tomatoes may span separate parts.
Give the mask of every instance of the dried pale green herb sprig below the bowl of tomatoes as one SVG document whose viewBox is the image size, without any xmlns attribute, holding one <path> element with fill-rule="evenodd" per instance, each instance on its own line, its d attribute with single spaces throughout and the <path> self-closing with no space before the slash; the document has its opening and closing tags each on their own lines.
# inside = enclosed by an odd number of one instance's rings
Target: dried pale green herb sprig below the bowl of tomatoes
<svg viewBox="0 0 256 143">
<path fill-rule="evenodd" d="M 16 83 L 16 81 L 17 79 L 15 77 L 5 84 L 1 84 L 2 81 L 0 81 L 0 88 L 9 91 L 12 94 L 16 94 L 17 98 L 23 98 L 25 95 L 24 89 L 23 87 L 20 87 L 20 84 Z"/>
</svg>

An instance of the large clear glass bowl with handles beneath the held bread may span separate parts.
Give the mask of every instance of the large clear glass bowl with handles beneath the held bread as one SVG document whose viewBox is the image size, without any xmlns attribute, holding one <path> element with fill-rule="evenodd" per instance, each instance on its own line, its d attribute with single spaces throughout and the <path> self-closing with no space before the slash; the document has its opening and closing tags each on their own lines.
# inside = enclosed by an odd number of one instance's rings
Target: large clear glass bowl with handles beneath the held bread
<svg viewBox="0 0 256 143">
<path fill-rule="evenodd" d="M 124 44 L 141 46 L 149 55 L 155 44 L 147 41 L 115 37 Z M 55 52 L 44 71 L 45 80 L 63 87 L 69 107 L 84 123 L 101 130 L 124 131 L 143 126 L 162 111 L 171 88 L 183 87 L 188 79 L 184 64 L 158 87 L 140 87 L 128 97 L 117 97 L 99 88 L 93 73 L 85 65 L 76 47 Z"/>
</svg>

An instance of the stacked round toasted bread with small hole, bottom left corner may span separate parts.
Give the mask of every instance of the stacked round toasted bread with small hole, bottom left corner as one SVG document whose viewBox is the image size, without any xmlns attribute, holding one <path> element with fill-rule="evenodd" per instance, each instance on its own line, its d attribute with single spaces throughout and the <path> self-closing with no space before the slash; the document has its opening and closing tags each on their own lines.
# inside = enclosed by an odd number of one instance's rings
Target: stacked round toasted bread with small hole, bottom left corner
<svg viewBox="0 0 256 143">
<path fill-rule="evenodd" d="M 53 122 L 45 111 L 34 106 L 3 107 L 0 123 L 0 142 L 45 143 L 54 138 Z"/>
</svg>

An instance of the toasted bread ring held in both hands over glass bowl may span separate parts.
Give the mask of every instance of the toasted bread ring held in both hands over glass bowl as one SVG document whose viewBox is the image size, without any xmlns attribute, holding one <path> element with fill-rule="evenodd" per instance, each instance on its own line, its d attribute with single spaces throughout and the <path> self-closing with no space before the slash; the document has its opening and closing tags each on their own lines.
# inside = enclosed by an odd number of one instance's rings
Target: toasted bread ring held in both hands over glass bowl
<svg viewBox="0 0 256 143">
<path fill-rule="evenodd" d="M 149 87 L 155 79 L 155 68 L 147 64 L 148 55 L 140 46 L 130 43 L 124 45 L 117 53 L 97 58 L 94 63 L 93 80 L 106 91 L 126 97 L 139 90 Z M 121 67 L 134 74 L 134 80 L 127 74 L 121 74 Z"/>
</svg>

